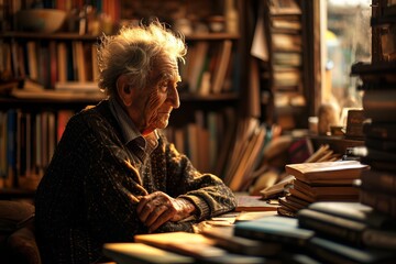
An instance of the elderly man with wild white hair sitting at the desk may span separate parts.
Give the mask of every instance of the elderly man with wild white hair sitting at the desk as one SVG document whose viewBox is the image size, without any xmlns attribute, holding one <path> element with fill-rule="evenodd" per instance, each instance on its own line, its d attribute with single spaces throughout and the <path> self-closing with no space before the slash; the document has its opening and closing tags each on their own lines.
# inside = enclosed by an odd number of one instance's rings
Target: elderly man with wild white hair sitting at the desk
<svg viewBox="0 0 396 264">
<path fill-rule="evenodd" d="M 106 242 L 193 232 L 237 204 L 220 178 L 198 172 L 160 131 L 180 105 L 183 37 L 154 21 L 102 36 L 98 52 L 108 99 L 69 120 L 36 191 L 44 263 L 100 262 Z"/>
</svg>

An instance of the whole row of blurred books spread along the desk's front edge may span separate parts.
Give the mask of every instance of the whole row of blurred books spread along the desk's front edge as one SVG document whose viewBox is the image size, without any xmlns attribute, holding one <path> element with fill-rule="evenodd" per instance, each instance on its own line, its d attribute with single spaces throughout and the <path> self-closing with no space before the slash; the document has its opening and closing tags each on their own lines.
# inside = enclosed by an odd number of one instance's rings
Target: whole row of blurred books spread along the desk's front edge
<svg viewBox="0 0 396 264">
<path fill-rule="evenodd" d="M 265 216 L 196 233 L 108 243 L 118 263 L 395 263 L 396 220 L 360 202 L 314 202 L 297 218 Z"/>
</svg>

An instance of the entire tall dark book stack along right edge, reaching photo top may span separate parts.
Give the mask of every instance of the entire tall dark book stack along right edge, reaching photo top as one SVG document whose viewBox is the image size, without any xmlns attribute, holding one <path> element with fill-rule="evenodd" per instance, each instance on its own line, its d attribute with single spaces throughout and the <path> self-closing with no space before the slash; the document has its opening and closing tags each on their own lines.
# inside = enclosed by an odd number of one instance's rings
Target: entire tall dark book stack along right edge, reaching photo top
<svg viewBox="0 0 396 264">
<path fill-rule="evenodd" d="M 364 146 L 354 148 L 371 169 L 359 182 L 361 202 L 396 217 L 396 3 L 378 1 L 373 7 L 371 63 L 356 63 L 363 94 Z"/>
</svg>

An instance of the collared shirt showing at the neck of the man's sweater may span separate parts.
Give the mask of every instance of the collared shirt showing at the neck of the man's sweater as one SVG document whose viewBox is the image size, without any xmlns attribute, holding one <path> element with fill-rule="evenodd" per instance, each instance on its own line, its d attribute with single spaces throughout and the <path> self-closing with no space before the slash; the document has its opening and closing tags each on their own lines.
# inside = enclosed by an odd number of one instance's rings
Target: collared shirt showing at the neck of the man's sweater
<svg viewBox="0 0 396 264">
<path fill-rule="evenodd" d="M 110 98 L 110 110 L 121 127 L 124 144 L 143 162 L 158 145 L 156 131 L 143 136 L 119 101 Z"/>
</svg>

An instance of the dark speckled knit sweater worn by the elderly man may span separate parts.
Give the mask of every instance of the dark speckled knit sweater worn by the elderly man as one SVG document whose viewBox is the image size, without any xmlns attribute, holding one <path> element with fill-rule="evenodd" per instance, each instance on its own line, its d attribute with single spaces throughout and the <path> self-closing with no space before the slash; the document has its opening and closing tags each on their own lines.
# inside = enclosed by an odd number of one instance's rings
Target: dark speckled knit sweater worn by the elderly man
<svg viewBox="0 0 396 264">
<path fill-rule="evenodd" d="M 193 232 L 195 222 L 234 209 L 222 180 L 197 172 L 163 135 L 143 162 L 121 136 L 107 100 L 69 120 L 35 197 L 43 263 L 95 263 L 103 243 L 146 233 L 136 215 L 136 197 L 146 193 L 184 197 L 198 209 L 196 221 L 167 222 L 156 232 Z"/>
</svg>

